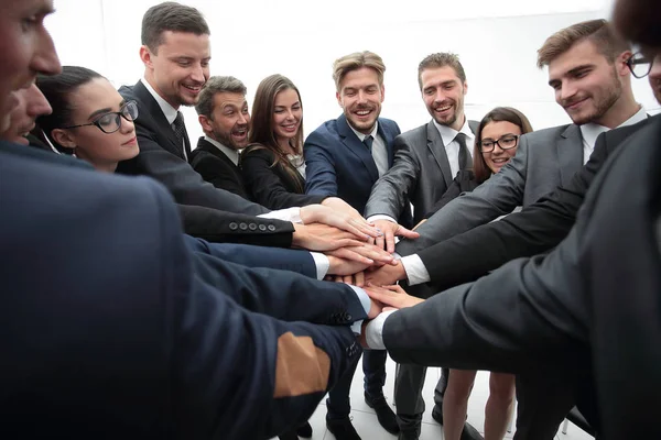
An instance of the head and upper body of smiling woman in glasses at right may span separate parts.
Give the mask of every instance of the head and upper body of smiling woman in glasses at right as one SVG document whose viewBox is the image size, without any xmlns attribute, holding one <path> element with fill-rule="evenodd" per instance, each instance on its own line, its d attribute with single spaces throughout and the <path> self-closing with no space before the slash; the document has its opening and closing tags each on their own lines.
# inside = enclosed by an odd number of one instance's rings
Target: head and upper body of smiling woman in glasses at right
<svg viewBox="0 0 661 440">
<path fill-rule="evenodd" d="M 457 173 L 452 185 L 424 216 L 432 217 L 462 193 L 469 193 L 502 168 L 517 154 L 519 138 L 530 133 L 528 118 L 511 107 L 496 107 L 479 122 L 473 148 L 473 169 Z"/>
</svg>

